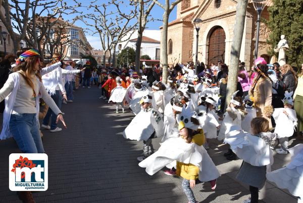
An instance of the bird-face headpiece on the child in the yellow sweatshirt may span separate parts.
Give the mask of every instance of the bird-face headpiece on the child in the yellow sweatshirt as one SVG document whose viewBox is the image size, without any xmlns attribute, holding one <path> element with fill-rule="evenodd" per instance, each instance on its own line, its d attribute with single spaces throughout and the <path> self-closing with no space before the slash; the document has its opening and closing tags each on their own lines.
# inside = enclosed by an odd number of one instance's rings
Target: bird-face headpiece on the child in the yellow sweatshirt
<svg viewBox="0 0 303 203">
<path fill-rule="evenodd" d="M 177 116 L 177 121 L 179 124 L 178 129 L 181 130 L 182 128 L 189 128 L 196 131 L 199 126 L 191 122 L 190 118 L 193 115 L 194 115 L 194 111 L 192 111 L 189 106 L 185 108 L 185 105 L 183 105 L 181 113 L 178 114 Z"/>
</svg>

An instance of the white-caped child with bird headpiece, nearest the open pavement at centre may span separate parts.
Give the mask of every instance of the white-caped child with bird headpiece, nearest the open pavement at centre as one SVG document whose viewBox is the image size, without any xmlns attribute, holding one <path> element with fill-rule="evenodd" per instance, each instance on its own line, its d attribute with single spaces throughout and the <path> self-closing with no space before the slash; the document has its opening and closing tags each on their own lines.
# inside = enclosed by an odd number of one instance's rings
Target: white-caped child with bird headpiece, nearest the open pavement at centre
<svg viewBox="0 0 303 203">
<path fill-rule="evenodd" d="M 124 138 L 143 141 L 143 156 L 139 156 L 138 161 L 144 160 L 154 152 L 151 139 L 164 135 L 162 115 L 151 106 L 151 99 L 152 97 L 146 92 L 140 101 L 142 110 L 131 120 L 123 132 Z"/>
</svg>

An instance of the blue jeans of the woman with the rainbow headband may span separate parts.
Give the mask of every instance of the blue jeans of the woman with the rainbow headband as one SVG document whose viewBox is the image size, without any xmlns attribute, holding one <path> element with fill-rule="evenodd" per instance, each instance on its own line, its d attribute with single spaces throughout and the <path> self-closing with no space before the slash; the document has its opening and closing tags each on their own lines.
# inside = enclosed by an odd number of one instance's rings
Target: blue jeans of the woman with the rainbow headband
<svg viewBox="0 0 303 203">
<path fill-rule="evenodd" d="M 35 113 L 12 114 L 10 131 L 23 153 L 44 153 Z"/>
</svg>

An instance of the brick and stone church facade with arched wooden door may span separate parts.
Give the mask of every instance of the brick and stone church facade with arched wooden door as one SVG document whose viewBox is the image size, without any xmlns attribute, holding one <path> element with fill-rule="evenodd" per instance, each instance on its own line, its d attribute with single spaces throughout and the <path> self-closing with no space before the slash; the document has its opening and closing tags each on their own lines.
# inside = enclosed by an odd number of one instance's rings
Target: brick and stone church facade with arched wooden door
<svg viewBox="0 0 303 203">
<path fill-rule="evenodd" d="M 237 1 L 234 0 L 183 0 L 179 3 L 177 19 L 168 26 L 169 65 L 194 61 L 196 31 L 193 20 L 196 18 L 203 20 L 198 39 L 198 60 L 207 65 L 222 60 L 229 65 L 236 6 Z M 269 18 L 267 7 L 262 12 L 262 18 Z M 246 10 L 240 52 L 240 60 L 247 66 L 251 66 L 254 61 L 256 21 L 257 13 L 250 2 Z M 269 33 L 270 30 L 261 22 L 258 56 L 264 57 L 268 62 L 271 60 L 267 54 L 269 45 L 266 44 Z"/>
</svg>

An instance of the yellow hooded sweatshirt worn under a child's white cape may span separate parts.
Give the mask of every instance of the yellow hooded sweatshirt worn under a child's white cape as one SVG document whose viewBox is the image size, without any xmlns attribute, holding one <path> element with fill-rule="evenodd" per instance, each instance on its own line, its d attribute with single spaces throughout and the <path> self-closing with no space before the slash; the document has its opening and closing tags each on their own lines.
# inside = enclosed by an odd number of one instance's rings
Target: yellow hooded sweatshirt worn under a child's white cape
<svg viewBox="0 0 303 203">
<path fill-rule="evenodd" d="M 202 129 L 199 129 L 198 134 L 193 136 L 192 142 L 199 146 L 205 143 L 205 136 Z M 181 176 L 187 180 L 196 180 L 199 176 L 199 167 L 177 161 L 176 173 L 178 176 Z"/>
</svg>

